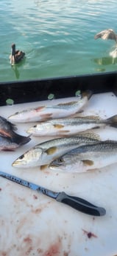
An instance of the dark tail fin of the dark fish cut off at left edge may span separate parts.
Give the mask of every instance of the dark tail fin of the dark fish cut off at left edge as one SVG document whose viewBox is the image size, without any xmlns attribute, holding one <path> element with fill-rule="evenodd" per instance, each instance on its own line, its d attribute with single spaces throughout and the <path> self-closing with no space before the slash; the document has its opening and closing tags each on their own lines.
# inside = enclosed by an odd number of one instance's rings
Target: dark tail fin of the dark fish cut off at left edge
<svg viewBox="0 0 117 256">
<path fill-rule="evenodd" d="M 22 136 L 20 134 L 13 133 L 12 141 L 18 145 L 24 145 L 31 140 L 30 136 L 31 136 L 31 134 L 29 134 L 29 136 L 26 137 L 26 136 Z"/>
</svg>

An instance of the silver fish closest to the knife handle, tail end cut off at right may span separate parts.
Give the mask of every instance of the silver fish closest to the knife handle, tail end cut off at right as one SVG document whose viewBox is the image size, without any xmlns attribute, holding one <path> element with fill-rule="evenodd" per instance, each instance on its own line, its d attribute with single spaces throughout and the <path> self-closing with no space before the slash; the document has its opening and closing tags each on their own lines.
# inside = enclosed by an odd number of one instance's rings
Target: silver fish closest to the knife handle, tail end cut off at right
<svg viewBox="0 0 117 256">
<path fill-rule="evenodd" d="M 104 168 L 113 163 L 117 163 L 117 142 L 105 140 L 74 148 L 50 163 L 49 168 L 54 171 L 80 173 Z"/>
</svg>

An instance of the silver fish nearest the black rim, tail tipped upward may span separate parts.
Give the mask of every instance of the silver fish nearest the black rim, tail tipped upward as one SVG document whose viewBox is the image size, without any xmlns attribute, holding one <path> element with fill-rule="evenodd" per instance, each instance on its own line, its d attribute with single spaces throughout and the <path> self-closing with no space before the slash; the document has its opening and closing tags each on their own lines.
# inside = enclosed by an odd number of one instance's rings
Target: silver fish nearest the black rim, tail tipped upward
<svg viewBox="0 0 117 256">
<path fill-rule="evenodd" d="M 28 108 L 12 114 L 8 119 L 12 122 L 41 122 L 49 119 L 71 116 L 82 110 L 92 96 L 91 91 L 81 93 L 78 99 L 57 105 L 43 105 L 38 108 Z"/>
</svg>

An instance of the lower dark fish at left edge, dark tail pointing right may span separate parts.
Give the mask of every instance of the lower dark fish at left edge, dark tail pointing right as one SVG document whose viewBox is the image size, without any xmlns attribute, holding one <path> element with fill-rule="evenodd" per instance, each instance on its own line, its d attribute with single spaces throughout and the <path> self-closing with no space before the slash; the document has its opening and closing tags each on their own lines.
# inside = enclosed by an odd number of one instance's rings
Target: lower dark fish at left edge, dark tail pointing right
<svg viewBox="0 0 117 256">
<path fill-rule="evenodd" d="M 15 151 L 21 145 L 26 144 L 31 139 L 18 135 L 18 137 L 4 137 L 0 135 L 0 151 Z"/>
</svg>

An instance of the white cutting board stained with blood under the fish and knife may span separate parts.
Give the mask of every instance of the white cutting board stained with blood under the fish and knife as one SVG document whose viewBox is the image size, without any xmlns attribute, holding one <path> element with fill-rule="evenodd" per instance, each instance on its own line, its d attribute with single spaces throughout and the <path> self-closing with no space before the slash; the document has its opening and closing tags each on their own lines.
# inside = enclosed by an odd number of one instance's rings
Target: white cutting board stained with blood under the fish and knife
<svg viewBox="0 0 117 256">
<path fill-rule="evenodd" d="M 64 102 L 69 100 L 64 99 Z M 24 108 L 61 101 L 63 99 L 4 106 L 0 107 L 1 116 L 7 118 Z M 99 114 L 103 118 L 117 114 L 117 98 L 113 93 L 93 95 L 82 114 Z M 18 133 L 26 135 L 26 129 L 30 126 L 17 124 Z M 100 134 L 102 140 L 117 140 L 116 128 L 103 128 L 95 132 Z M 0 178 L 0 256 L 116 255 L 117 164 L 83 174 L 40 171 L 40 168 L 17 169 L 11 166 L 27 149 L 50 139 L 32 137 L 32 141 L 15 152 L 0 152 L 1 171 L 54 191 L 82 197 L 104 207 L 107 214 L 104 217 L 82 214 L 70 206 Z"/>
</svg>

